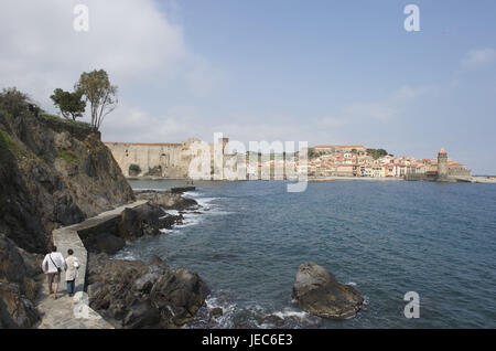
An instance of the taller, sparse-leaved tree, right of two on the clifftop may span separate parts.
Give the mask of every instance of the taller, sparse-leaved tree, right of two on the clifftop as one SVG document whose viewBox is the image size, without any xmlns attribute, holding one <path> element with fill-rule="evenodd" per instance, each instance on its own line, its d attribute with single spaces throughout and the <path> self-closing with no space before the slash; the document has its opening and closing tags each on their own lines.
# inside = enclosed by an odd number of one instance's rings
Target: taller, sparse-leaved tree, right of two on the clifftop
<svg viewBox="0 0 496 351">
<path fill-rule="evenodd" d="M 89 73 L 84 72 L 74 88 L 85 96 L 86 102 L 89 102 L 91 127 L 98 130 L 105 116 L 117 107 L 117 86 L 110 84 L 107 72 L 95 70 Z"/>
</svg>

